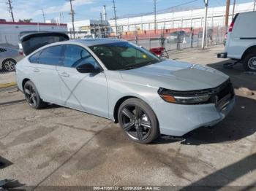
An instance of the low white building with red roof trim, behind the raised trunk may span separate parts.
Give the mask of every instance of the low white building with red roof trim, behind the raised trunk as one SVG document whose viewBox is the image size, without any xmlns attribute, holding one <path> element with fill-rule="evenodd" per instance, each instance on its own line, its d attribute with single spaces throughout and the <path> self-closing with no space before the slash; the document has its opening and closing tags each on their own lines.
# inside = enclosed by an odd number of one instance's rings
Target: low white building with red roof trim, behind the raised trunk
<svg viewBox="0 0 256 191">
<path fill-rule="evenodd" d="M 0 45 L 18 47 L 20 36 L 29 32 L 56 31 L 67 32 L 67 24 L 56 23 L 23 23 L 0 21 Z"/>
</svg>

